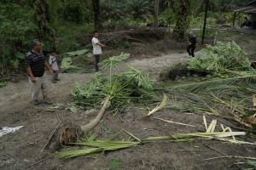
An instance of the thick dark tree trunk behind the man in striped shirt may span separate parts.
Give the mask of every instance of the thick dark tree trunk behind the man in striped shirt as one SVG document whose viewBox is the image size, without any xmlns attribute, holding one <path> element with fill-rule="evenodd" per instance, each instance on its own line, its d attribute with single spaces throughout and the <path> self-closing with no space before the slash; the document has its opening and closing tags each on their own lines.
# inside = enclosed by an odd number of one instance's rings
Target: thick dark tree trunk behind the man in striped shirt
<svg viewBox="0 0 256 170">
<path fill-rule="evenodd" d="M 46 0 L 35 0 L 33 3 L 36 21 L 38 23 L 38 34 L 41 40 L 50 42 L 54 47 L 54 34 L 49 26 L 49 6 Z"/>
</svg>

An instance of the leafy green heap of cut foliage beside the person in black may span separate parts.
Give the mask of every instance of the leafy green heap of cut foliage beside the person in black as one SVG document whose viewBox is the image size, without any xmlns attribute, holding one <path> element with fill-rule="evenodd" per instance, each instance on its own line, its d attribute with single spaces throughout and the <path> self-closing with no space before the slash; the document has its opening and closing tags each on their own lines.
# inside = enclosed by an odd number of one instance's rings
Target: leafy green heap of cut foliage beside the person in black
<svg viewBox="0 0 256 170">
<path fill-rule="evenodd" d="M 215 46 L 208 45 L 201 54 L 187 62 L 193 71 L 206 71 L 211 74 L 231 71 L 252 71 L 251 62 L 236 42 L 217 42 Z"/>
</svg>

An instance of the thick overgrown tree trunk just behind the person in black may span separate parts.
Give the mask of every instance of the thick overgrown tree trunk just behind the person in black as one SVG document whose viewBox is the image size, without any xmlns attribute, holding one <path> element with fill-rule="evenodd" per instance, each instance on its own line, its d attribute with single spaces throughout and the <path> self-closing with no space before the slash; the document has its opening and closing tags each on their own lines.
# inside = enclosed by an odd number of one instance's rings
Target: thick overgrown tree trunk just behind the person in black
<svg viewBox="0 0 256 170">
<path fill-rule="evenodd" d="M 172 36 L 175 37 L 178 41 L 183 40 L 187 31 L 189 30 L 190 8 L 190 0 L 177 0 L 175 2 L 177 22 Z"/>
</svg>

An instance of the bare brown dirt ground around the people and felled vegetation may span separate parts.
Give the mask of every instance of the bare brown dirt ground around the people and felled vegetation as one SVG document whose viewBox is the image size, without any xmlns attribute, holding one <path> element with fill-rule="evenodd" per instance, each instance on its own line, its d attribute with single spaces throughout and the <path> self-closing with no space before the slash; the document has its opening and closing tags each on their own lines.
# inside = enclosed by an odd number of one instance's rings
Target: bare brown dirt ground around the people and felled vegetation
<svg viewBox="0 0 256 170">
<path fill-rule="evenodd" d="M 255 49 L 255 48 L 254 48 Z M 251 50 L 250 50 L 251 51 Z M 156 81 L 164 68 L 181 63 L 188 59 L 185 53 L 171 51 L 170 54 L 129 59 L 117 71 L 125 66 L 133 66 L 147 71 Z M 67 105 L 71 101 L 69 93 L 74 82 L 86 82 L 95 73 L 60 75 L 61 82 L 49 82 L 50 98 L 55 103 Z M 49 76 L 48 76 L 49 79 Z M 197 170 L 197 169 L 245 169 L 246 160 L 214 159 L 216 156 L 253 156 L 256 148 L 252 145 L 229 144 L 220 141 L 201 141 L 191 143 L 159 142 L 143 144 L 137 147 L 116 150 L 96 156 L 78 157 L 61 160 L 55 158 L 55 150 L 41 150 L 49 139 L 49 134 L 60 120 L 84 124 L 89 122 L 96 112 L 86 114 L 79 109 L 78 113 L 66 110 L 48 111 L 48 105 L 34 107 L 29 103 L 30 88 L 26 79 L 0 88 L 0 127 L 18 127 L 19 131 L 9 133 L 0 138 L 0 169 L 3 170 Z M 124 114 L 107 114 L 94 129 L 97 138 L 109 139 L 124 128 L 143 139 L 149 136 L 169 135 L 174 133 L 203 132 L 204 125 L 201 115 L 183 114 L 178 111 L 162 110 L 157 117 L 195 125 L 184 127 L 161 122 L 153 118 L 145 118 L 145 108 L 130 108 Z M 211 117 L 207 116 L 211 121 Z M 225 120 L 223 120 L 226 122 Z M 227 122 L 230 123 L 230 122 Z M 128 139 L 128 137 L 127 137 Z M 254 142 L 253 139 L 247 139 Z M 113 168 L 111 162 L 118 164 Z M 242 163 L 237 164 L 238 161 Z M 112 167 L 112 168 L 111 168 Z"/>
</svg>

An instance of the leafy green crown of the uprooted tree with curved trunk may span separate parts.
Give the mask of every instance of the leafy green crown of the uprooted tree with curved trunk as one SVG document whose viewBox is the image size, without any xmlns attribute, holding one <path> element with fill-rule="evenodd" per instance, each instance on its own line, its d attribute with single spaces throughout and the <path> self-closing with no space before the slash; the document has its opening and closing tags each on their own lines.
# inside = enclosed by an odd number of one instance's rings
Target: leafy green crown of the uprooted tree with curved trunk
<svg viewBox="0 0 256 170">
<path fill-rule="evenodd" d="M 84 84 L 76 83 L 72 96 L 78 105 L 100 105 L 102 99 L 109 97 L 112 108 L 124 108 L 130 103 L 148 99 L 148 92 L 153 91 L 154 85 L 148 74 L 129 68 L 128 71 L 113 75 L 113 68 L 117 68 L 129 54 L 120 54 L 105 59 L 101 63 L 102 70 L 109 70 L 109 75 L 96 74 Z M 146 98 L 147 96 L 147 98 Z"/>
</svg>

